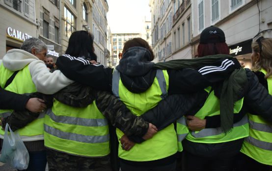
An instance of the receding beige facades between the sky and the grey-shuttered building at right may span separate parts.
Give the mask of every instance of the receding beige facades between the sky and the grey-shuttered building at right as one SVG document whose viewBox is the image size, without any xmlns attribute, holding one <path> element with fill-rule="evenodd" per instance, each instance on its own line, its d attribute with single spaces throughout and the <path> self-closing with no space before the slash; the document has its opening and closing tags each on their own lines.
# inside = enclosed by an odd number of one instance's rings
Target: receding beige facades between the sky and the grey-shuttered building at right
<svg viewBox="0 0 272 171">
<path fill-rule="evenodd" d="M 191 58 L 191 0 L 150 0 L 153 62 Z"/>
</svg>

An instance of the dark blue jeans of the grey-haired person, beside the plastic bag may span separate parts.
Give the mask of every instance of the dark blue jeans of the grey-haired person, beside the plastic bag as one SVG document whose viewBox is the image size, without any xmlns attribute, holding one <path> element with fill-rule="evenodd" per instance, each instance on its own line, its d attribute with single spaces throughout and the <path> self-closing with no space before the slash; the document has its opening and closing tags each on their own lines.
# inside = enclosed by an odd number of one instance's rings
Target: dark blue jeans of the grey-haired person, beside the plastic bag
<svg viewBox="0 0 272 171">
<path fill-rule="evenodd" d="M 24 171 L 45 171 L 46 168 L 46 150 L 29 152 L 29 163 L 27 170 Z"/>
</svg>

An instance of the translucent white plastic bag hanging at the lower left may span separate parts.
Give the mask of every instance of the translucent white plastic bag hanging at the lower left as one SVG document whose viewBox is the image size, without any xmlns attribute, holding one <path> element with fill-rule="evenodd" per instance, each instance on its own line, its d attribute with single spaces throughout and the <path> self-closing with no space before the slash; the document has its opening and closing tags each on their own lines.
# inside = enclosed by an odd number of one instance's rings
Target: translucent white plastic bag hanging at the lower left
<svg viewBox="0 0 272 171">
<path fill-rule="evenodd" d="M 27 169 L 29 154 L 18 131 L 13 132 L 10 128 L 8 133 L 8 124 L 6 124 L 3 146 L 0 156 L 0 162 L 8 163 L 18 170 Z"/>
</svg>

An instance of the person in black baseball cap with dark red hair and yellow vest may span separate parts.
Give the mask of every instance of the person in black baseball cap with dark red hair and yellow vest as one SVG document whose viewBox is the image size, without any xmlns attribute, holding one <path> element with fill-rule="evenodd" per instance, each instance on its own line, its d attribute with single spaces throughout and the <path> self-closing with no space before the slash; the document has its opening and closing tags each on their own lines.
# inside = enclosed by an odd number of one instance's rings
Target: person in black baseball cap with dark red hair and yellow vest
<svg viewBox="0 0 272 171">
<path fill-rule="evenodd" d="M 228 46 L 225 43 L 224 32 L 215 26 L 207 27 L 200 35 L 198 57 L 218 53 L 229 53 Z M 189 134 L 182 142 L 185 158 L 184 167 L 186 171 L 231 170 L 236 157 L 239 155 L 244 139 L 248 136 L 248 119 L 245 113 L 249 110 L 260 111 L 263 116 L 270 120 L 272 119 L 272 115 L 269 113 L 270 110 L 268 110 L 267 107 L 267 105 L 271 103 L 271 100 L 268 100 L 271 99 L 268 92 L 263 86 L 258 85 L 254 74 L 248 69 L 246 69 L 246 77 L 248 85 L 241 89 L 245 91 L 245 93 L 243 93 L 243 96 L 237 98 L 233 107 L 234 117 L 240 117 L 242 119 L 233 124 L 232 128 L 226 132 L 222 131 L 222 125 L 226 124 L 227 120 L 222 119 L 223 116 L 220 108 L 223 106 L 220 106 L 218 99 L 220 92 L 218 93 L 216 86 L 205 88 L 208 96 L 204 106 L 194 116 L 187 117 L 187 126 L 192 130 L 189 131 Z M 260 88 L 262 91 L 260 91 Z M 216 115 L 218 115 L 221 121 L 219 127 L 207 128 L 209 124 L 208 120 L 205 119 L 209 116 Z M 201 119 L 200 121 L 204 121 L 204 124 L 202 128 L 193 128 L 198 118 Z M 177 130 L 180 131 L 178 133 L 187 133 L 188 130 L 184 128 L 184 119 L 181 121 L 183 121 L 180 122 L 183 127 L 179 129 L 179 125 L 177 126 Z M 206 121 L 207 123 L 205 123 Z M 211 120 L 209 122 L 211 122 Z M 197 165 L 195 165 L 195 163 L 197 163 Z"/>
</svg>

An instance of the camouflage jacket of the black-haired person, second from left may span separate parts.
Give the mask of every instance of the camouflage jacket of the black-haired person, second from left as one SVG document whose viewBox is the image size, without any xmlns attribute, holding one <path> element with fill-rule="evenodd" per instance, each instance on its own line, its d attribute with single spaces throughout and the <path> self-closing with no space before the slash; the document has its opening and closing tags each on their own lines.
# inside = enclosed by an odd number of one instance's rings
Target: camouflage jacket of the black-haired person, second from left
<svg viewBox="0 0 272 171">
<path fill-rule="evenodd" d="M 41 93 L 32 93 L 30 96 L 44 99 L 47 107 L 53 106 L 53 96 Z M 54 94 L 54 98 L 72 107 L 86 107 L 95 100 L 97 108 L 109 120 L 110 124 L 121 129 L 128 136 L 137 135 L 141 137 L 149 128 L 148 122 L 132 114 L 123 102 L 107 91 L 96 91 L 89 86 L 74 83 Z M 25 127 L 39 114 L 30 111 L 14 111 L 2 120 L 1 125 L 5 128 L 6 123 L 8 123 L 11 129 L 15 131 Z"/>
</svg>

